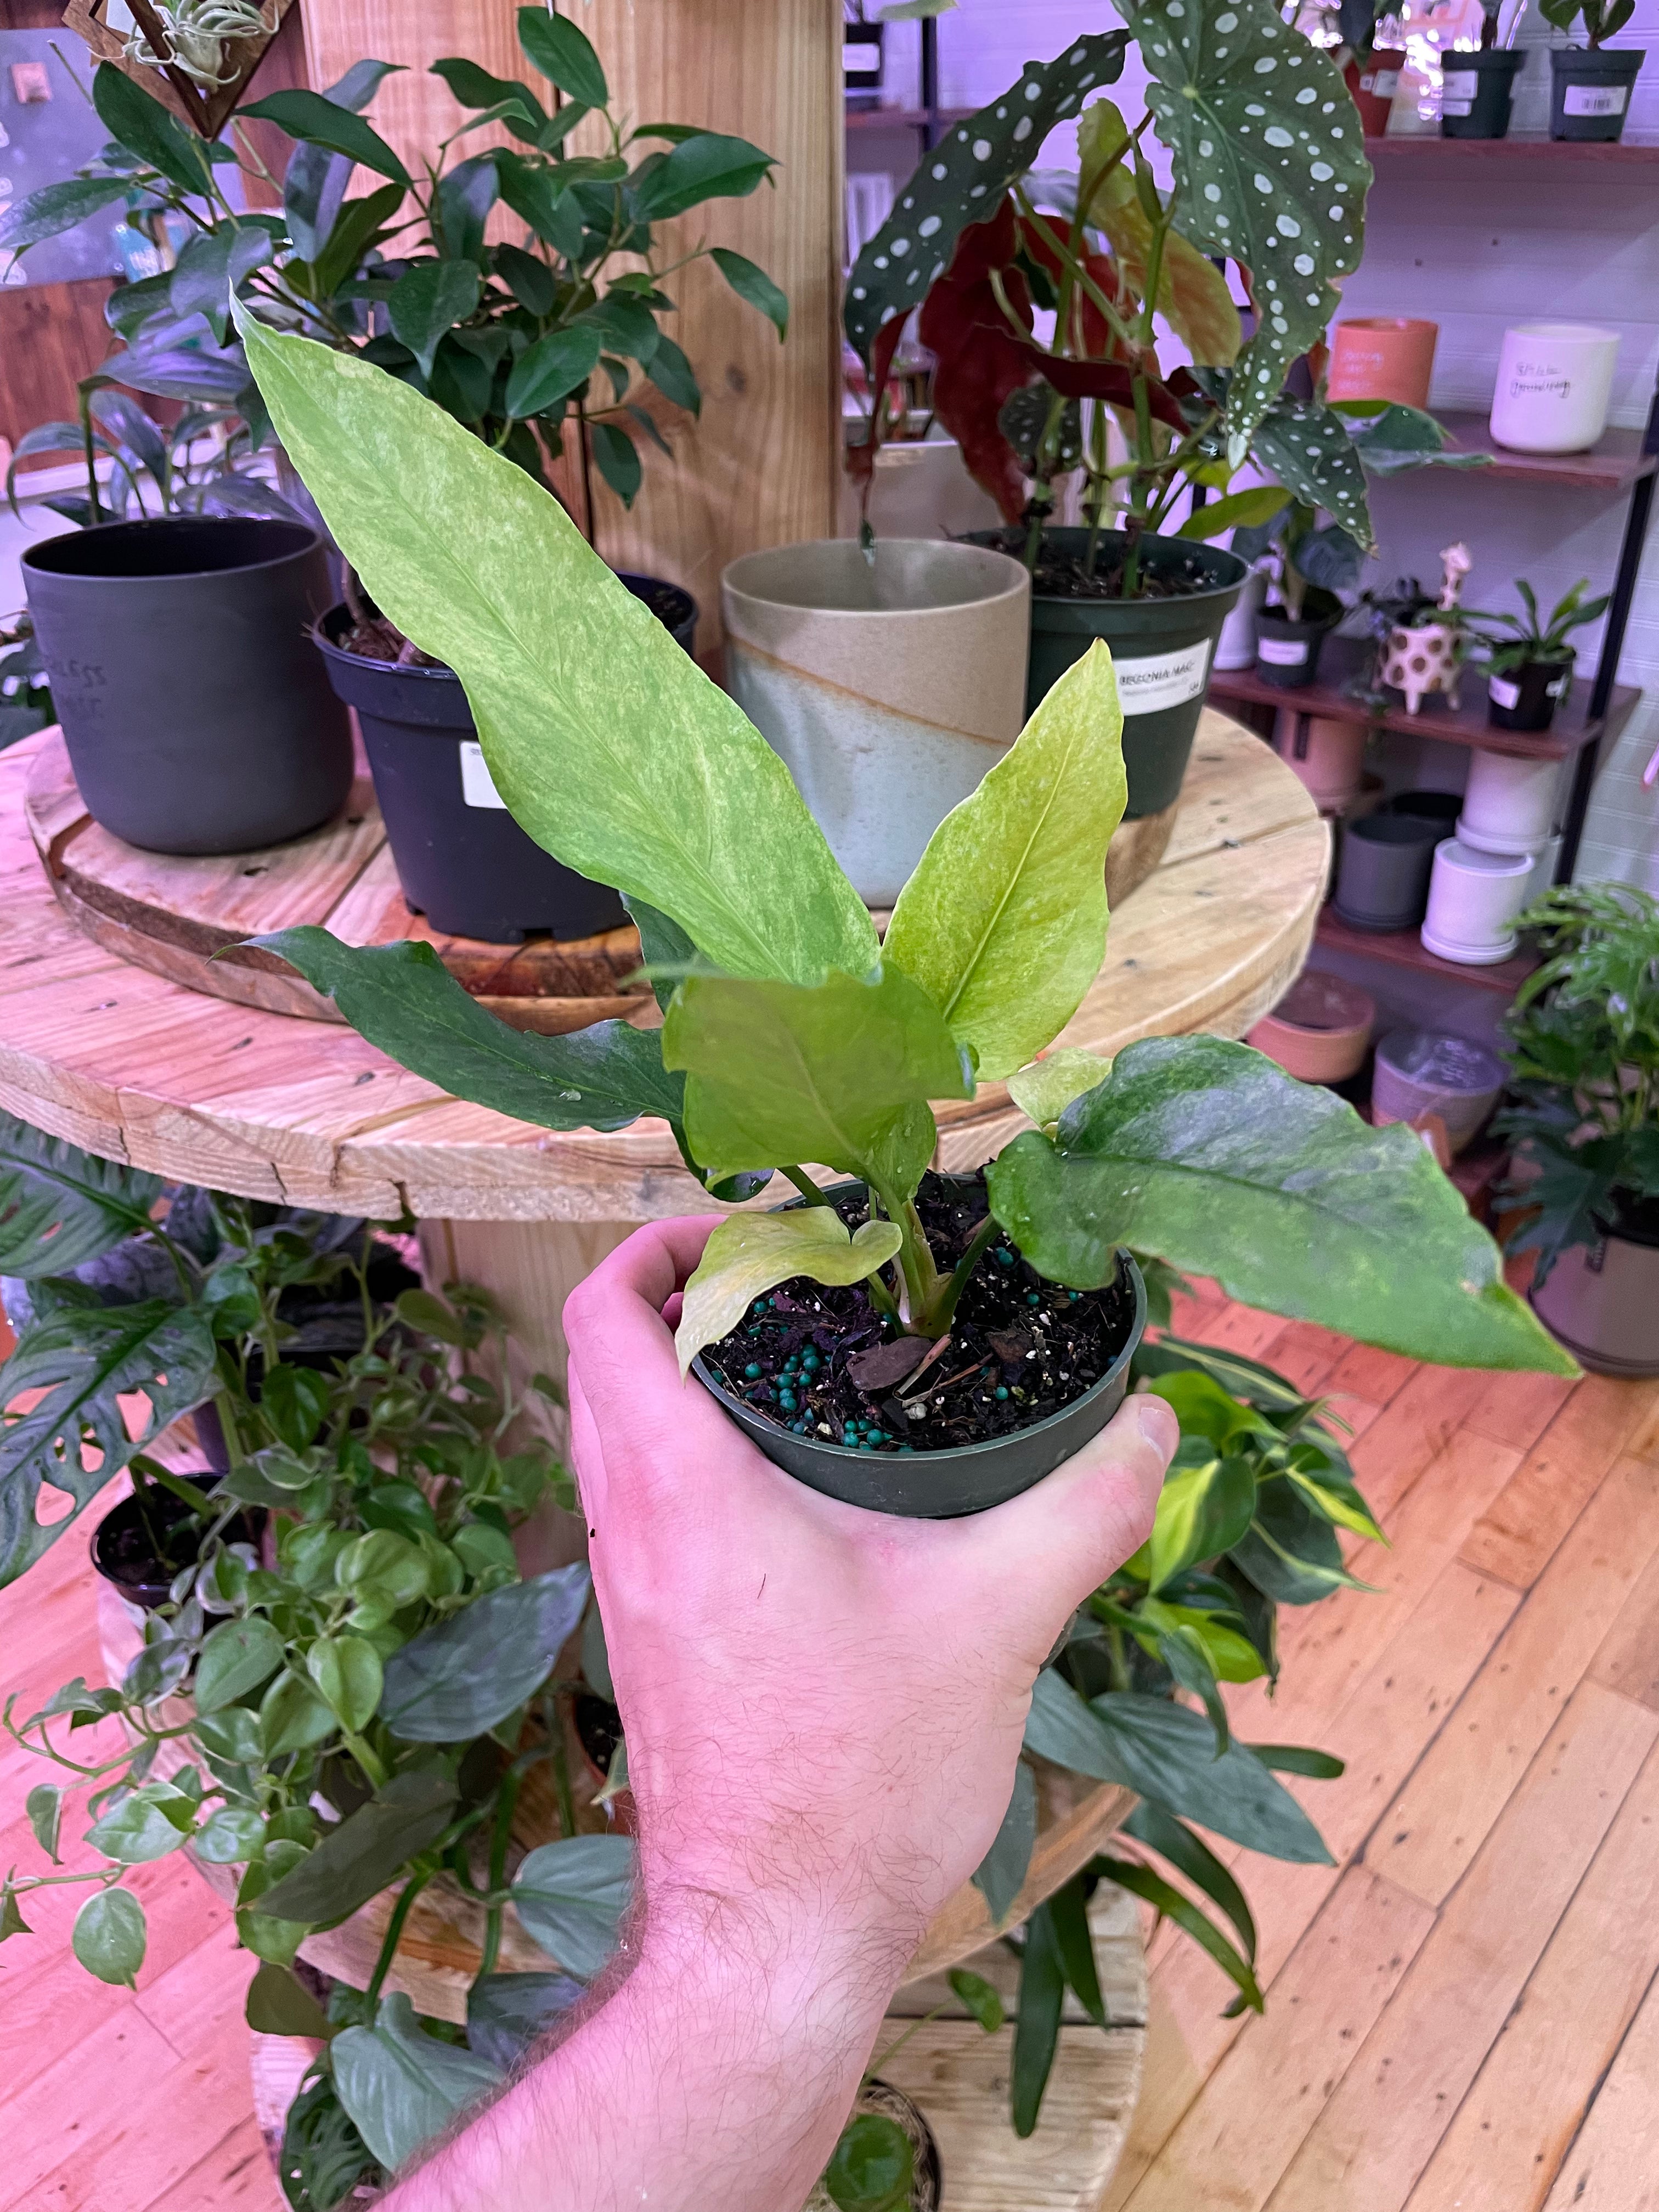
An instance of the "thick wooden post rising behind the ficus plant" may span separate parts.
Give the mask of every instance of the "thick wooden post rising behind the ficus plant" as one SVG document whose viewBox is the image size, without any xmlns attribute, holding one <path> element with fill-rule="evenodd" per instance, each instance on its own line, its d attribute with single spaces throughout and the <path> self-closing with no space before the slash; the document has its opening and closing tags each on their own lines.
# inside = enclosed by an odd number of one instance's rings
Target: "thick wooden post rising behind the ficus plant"
<svg viewBox="0 0 1659 2212">
<path fill-rule="evenodd" d="M 445 53 L 526 73 L 515 0 L 303 0 L 314 86 L 376 55 L 407 64 L 369 115 L 405 159 L 431 153 L 462 111 Z M 675 458 L 646 440 L 633 513 L 595 484 L 597 540 L 619 568 L 684 584 L 699 648 L 719 644 L 719 575 L 759 546 L 834 533 L 841 469 L 841 9 L 834 0 L 588 0 L 568 13 L 599 51 L 613 106 L 637 122 L 695 122 L 779 157 L 776 186 L 717 199 L 666 226 L 677 250 L 706 239 L 759 261 L 790 299 L 790 338 L 708 263 L 677 272 L 670 323 L 703 387 L 701 420 L 650 396 Z M 670 254 L 672 259 L 672 254 Z"/>
</svg>

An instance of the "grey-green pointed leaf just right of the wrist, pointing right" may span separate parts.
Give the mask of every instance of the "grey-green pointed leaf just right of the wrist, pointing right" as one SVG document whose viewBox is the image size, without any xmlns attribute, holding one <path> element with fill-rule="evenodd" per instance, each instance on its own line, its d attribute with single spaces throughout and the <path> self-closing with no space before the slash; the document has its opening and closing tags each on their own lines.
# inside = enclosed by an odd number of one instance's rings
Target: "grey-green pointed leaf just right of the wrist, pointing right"
<svg viewBox="0 0 1659 2212">
<path fill-rule="evenodd" d="M 1210 1723 L 1188 1705 L 1137 1690 L 1084 1703 L 1071 1683 L 1044 1668 L 1031 1692 L 1026 1750 L 1095 1781 L 1124 1783 L 1267 1858 L 1332 1865 L 1296 1798 L 1241 1743 L 1217 1759 Z"/>
</svg>

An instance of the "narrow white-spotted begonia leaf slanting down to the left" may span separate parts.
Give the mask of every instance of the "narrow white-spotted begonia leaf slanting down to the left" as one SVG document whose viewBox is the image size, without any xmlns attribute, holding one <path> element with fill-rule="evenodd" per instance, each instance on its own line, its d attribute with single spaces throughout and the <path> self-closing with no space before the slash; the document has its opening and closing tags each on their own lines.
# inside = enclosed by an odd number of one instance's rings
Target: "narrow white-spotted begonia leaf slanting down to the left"
<svg viewBox="0 0 1659 2212">
<path fill-rule="evenodd" d="M 922 155 L 894 212 L 847 279 L 843 319 L 865 367 L 883 323 L 909 314 L 942 276 L 969 223 L 982 223 L 1037 157 L 1055 124 L 1075 117 L 1091 91 L 1124 73 L 1126 31 L 1088 33 L 1055 62 L 1020 71 L 1002 97 L 956 124 Z"/>
</svg>

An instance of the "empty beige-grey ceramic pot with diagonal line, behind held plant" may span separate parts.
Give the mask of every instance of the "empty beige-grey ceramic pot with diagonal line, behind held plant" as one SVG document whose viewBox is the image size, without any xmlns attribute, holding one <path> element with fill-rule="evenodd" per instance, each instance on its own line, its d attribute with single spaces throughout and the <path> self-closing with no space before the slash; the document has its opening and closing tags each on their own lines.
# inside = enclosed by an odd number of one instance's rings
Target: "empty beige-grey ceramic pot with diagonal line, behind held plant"
<svg viewBox="0 0 1659 2212">
<path fill-rule="evenodd" d="M 1031 577 L 987 546 L 849 538 L 745 553 L 721 577 L 726 686 L 830 849 L 891 907 L 1024 726 Z"/>
</svg>

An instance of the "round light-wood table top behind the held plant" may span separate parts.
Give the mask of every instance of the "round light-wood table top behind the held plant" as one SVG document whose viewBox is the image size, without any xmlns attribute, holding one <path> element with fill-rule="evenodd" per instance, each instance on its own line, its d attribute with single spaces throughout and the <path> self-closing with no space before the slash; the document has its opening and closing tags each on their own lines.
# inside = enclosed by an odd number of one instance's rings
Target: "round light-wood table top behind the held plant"
<svg viewBox="0 0 1659 2212">
<path fill-rule="evenodd" d="M 451 1221 L 648 1221 L 708 1203 L 661 1121 L 531 1128 L 447 1097 L 349 1029 L 208 998 L 82 936 L 24 818 L 44 741 L 0 754 L 11 1113 L 173 1181 L 376 1219 L 407 1206 Z M 1329 830 L 1296 776 L 1206 710 L 1164 860 L 1113 914 L 1106 962 L 1060 1042 L 1113 1053 L 1199 1029 L 1243 1035 L 1307 956 L 1327 865 Z M 967 1170 L 1024 1117 L 984 1084 L 938 1121 L 938 1166 Z"/>
</svg>

